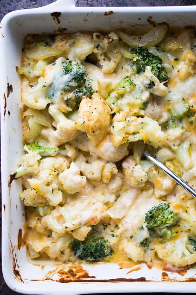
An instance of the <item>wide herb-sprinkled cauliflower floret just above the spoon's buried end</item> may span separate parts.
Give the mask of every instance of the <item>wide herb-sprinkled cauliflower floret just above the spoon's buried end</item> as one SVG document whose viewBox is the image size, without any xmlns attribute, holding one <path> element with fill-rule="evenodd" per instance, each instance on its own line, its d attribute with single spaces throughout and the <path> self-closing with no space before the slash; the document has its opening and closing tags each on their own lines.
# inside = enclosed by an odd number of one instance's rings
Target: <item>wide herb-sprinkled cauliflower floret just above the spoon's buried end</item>
<svg viewBox="0 0 196 295">
<path fill-rule="evenodd" d="M 126 116 L 118 113 L 113 118 L 111 140 L 116 148 L 125 142 L 143 140 L 154 148 L 162 146 L 167 135 L 161 131 L 158 122 L 149 117 Z"/>
</svg>

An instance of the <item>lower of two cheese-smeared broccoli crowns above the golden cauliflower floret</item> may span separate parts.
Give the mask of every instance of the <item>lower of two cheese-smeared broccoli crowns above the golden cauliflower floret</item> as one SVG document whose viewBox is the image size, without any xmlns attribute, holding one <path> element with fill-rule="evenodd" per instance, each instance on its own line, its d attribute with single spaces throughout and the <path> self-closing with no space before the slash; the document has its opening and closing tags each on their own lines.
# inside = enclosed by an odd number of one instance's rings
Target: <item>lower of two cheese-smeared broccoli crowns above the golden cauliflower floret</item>
<svg viewBox="0 0 196 295">
<path fill-rule="evenodd" d="M 92 86 L 90 81 L 88 80 L 84 87 L 75 89 L 71 94 L 67 95 L 66 98 L 64 98 L 64 100 L 66 105 L 70 107 L 72 111 L 74 111 L 76 108 L 79 107 L 82 97 L 90 98 L 92 94 L 93 94 Z"/>
</svg>

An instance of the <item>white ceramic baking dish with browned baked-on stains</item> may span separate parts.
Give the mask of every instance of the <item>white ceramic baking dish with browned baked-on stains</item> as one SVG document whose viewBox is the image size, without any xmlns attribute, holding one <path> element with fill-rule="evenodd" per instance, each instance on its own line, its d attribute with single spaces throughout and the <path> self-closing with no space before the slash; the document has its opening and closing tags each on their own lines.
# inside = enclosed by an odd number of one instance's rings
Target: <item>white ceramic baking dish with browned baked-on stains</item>
<svg viewBox="0 0 196 295">
<path fill-rule="evenodd" d="M 57 13 L 54 13 L 57 12 Z M 52 14 L 53 13 L 53 14 Z M 52 14 L 52 15 L 51 15 Z M 195 269 L 186 274 L 148 269 L 137 271 L 114 263 L 84 264 L 84 270 L 42 262 L 28 261 L 21 247 L 24 208 L 19 200 L 21 180 L 11 183 L 10 173 L 21 157 L 20 79 L 15 66 L 20 65 L 23 38 L 28 33 L 139 28 L 149 25 L 147 18 L 170 26 L 194 26 L 196 6 L 175 7 L 75 7 L 74 0 L 28 10 L 11 12 L 3 18 L 1 34 L 1 156 L 2 156 L 2 268 L 4 279 L 13 290 L 25 294 L 81 294 L 115 292 L 185 292 L 195 293 Z M 11 86 L 12 85 L 12 86 Z M 21 230 L 22 229 L 22 230 Z M 20 249 L 20 250 L 19 250 Z M 53 270 L 53 272 L 52 272 Z M 59 271 L 60 270 L 60 271 Z M 61 274 L 59 274 L 61 273 Z M 59 279 L 60 276 L 60 279 Z"/>
</svg>

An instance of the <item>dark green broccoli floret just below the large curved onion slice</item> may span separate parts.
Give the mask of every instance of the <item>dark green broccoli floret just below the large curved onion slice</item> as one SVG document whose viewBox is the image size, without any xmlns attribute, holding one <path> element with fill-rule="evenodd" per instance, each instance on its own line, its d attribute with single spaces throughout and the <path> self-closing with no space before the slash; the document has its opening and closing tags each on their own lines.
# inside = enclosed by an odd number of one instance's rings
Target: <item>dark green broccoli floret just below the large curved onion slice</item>
<svg viewBox="0 0 196 295">
<path fill-rule="evenodd" d="M 152 69 L 153 75 L 155 75 L 160 82 L 168 80 L 168 75 L 162 66 L 162 60 L 150 53 L 147 49 L 141 47 L 137 49 L 130 49 L 130 53 L 133 53 L 137 56 L 136 61 L 133 61 L 136 69 L 139 71 L 145 71 L 146 66 L 150 66 Z M 165 83 L 165 86 L 166 83 Z"/>
</svg>

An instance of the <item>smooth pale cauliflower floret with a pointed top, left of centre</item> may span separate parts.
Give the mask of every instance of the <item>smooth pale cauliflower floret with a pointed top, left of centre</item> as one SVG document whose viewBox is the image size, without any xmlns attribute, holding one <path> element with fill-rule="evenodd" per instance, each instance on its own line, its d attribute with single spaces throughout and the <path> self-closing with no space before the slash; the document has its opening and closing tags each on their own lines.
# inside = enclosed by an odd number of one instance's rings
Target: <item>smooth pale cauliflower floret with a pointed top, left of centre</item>
<svg viewBox="0 0 196 295">
<path fill-rule="evenodd" d="M 59 176 L 58 181 L 63 185 L 68 194 L 75 194 L 86 184 L 86 177 L 80 176 L 80 169 L 72 162 L 69 169 L 64 170 Z"/>
</svg>

